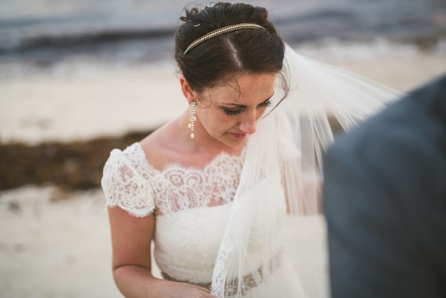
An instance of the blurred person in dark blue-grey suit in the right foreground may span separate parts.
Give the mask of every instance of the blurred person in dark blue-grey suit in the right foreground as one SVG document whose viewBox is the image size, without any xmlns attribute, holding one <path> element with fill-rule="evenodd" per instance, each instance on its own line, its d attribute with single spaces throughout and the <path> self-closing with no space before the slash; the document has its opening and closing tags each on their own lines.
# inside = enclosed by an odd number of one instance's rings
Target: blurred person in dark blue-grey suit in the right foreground
<svg viewBox="0 0 446 298">
<path fill-rule="evenodd" d="M 446 76 L 325 159 L 332 298 L 446 297 Z"/>
</svg>

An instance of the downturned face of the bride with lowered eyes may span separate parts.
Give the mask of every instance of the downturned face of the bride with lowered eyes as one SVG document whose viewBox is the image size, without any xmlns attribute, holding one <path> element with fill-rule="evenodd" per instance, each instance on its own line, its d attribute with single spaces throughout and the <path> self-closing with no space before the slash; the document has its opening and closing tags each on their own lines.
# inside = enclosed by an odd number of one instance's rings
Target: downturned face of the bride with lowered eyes
<svg viewBox="0 0 446 298">
<path fill-rule="evenodd" d="M 204 90 L 198 95 L 196 128 L 201 126 L 203 133 L 226 146 L 244 144 L 270 105 L 275 80 L 273 73 L 239 74 Z"/>
</svg>

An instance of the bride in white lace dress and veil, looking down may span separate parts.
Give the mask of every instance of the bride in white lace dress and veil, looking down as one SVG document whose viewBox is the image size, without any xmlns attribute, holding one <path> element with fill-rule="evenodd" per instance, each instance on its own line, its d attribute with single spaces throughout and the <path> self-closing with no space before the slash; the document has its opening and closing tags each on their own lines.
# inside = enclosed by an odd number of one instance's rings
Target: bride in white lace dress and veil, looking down
<svg viewBox="0 0 446 298">
<path fill-rule="evenodd" d="M 333 124 L 348 130 L 398 94 L 299 56 L 265 8 L 185 14 L 175 58 L 188 111 L 104 166 L 117 287 L 126 297 L 328 296 L 315 228 L 323 149 Z M 163 279 L 151 273 L 152 240 Z"/>
</svg>

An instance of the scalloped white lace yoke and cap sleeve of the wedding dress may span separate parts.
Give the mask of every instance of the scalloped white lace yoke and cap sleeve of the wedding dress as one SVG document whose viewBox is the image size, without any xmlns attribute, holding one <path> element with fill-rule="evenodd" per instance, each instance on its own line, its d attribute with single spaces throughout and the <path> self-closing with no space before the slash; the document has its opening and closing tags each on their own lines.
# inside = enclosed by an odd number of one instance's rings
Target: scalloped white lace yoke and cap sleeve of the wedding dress
<svg viewBox="0 0 446 298">
<path fill-rule="evenodd" d="M 102 187 L 108 205 L 118 205 L 139 217 L 147 216 L 154 207 L 157 213 L 167 214 L 224 205 L 237 190 L 242 156 L 222 152 L 202 170 L 171 164 L 159 171 L 145 159 L 141 145 L 134 143 L 124 151 L 110 152 Z"/>
</svg>

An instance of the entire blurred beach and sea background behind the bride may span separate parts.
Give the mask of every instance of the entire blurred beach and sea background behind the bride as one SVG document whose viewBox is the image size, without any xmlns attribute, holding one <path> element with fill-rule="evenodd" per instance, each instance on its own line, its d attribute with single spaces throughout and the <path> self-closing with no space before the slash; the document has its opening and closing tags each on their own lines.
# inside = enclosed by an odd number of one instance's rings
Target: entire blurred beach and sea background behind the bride
<svg viewBox="0 0 446 298">
<path fill-rule="evenodd" d="M 174 31 L 194 3 L 0 0 L 0 297 L 121 297 L 102 166 L 187 107 Z M 444 0 L 246 3 L 299 53 L 395 89 L 446 72 Z"/>
</svg>

